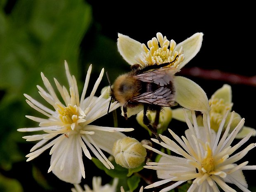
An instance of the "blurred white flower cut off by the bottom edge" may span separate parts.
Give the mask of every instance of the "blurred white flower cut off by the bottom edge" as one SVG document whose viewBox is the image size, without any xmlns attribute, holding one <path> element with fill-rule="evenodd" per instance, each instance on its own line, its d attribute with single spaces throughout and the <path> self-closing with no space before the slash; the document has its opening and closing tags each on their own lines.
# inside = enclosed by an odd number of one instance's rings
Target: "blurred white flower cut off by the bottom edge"
<svg viewBox="0 0 256 192">
<path fill-rule="evenodd" d="M 92 190 L 88 185 L 84 185 L 85 190 L 79 184 L 74 184 L 75 188 L 72 188 L 72 192 L 116 192 L 116 186 L 118 184 L 118 178 L 114 178 L 112 185 L 107 183 L 106 185 L 101 185 L 101 177 L 92 178 Z"/>
</svg>

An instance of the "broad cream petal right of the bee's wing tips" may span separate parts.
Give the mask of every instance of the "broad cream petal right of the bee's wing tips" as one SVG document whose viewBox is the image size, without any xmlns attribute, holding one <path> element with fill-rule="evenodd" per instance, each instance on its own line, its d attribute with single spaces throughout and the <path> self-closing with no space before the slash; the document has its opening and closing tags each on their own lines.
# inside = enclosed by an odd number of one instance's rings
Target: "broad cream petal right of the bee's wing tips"
<svg viewBox="0 0 256 192">
<path fill-rule="evenodd" d="M 190 110 L 209 113 L 208 98 L 197 83 L 182 76 L 175 76 L 174 84 L 178 104 Z"/>
</svg>

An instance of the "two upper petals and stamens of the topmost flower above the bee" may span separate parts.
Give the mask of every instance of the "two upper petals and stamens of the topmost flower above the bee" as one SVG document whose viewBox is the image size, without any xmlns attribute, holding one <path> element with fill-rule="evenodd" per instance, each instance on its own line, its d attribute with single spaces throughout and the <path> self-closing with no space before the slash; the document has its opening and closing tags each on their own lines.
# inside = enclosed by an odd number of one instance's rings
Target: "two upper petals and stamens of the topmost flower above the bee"
<svg viewBox="0 0 256 192">
<path fill-rule="evenodd" d="M 174 40 L 169 41 L 166 36 L 156 33 L 156 38 L 149 40 L 146 46 L 144 43 L 119 33 L 117 47 L 123 59 L 130 65 L 139 63 L 144 66 L 172 62 L 179 55 L 178 60 L 172 63 L 171 66 L 181 69 L 197 55 L 202 40 L 203 33 L 195 33 L 176 45 Z"/>
</svg>

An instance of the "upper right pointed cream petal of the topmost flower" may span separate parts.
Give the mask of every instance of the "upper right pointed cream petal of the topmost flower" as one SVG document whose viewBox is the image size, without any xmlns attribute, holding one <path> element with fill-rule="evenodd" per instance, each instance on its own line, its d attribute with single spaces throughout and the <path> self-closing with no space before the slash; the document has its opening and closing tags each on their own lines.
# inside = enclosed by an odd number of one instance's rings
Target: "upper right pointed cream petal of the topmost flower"
<svg viewBox="0 0 256 192">
<path fill-rule="evenodd" d="M 178 69 L 183 68 L 185 64 L 187 64 L 194 56 L 197 55 L 202 46 L 203 35 L 203 33 L 195 33 L 191 37 L 176 45 L 175 50 L 177 51 L 183 47 L 183 54 L 185 56 L 183 62 L 179 64 Z"/>
</svg>

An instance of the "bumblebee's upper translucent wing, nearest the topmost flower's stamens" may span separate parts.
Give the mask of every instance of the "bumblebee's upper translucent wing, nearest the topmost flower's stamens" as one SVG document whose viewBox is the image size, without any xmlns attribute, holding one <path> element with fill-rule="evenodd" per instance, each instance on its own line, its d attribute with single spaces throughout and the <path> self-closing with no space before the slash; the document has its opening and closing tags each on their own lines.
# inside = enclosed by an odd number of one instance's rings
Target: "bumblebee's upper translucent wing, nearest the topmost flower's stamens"
<svg viewBox="0 0 256 192">
<path fill-rule="evenodd" d="M 171 67 L 164 67 L 147 71 L 145 73 L 133 75 L 133 78 L 139 79 L 143 82 L 156 83 L 157 85 L 164 86 L 168 85 L 173 81 L 173 75 L 178 72 L 178 69 Z"/>
</svg>

